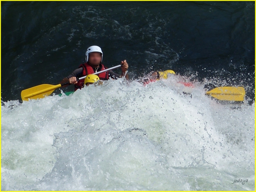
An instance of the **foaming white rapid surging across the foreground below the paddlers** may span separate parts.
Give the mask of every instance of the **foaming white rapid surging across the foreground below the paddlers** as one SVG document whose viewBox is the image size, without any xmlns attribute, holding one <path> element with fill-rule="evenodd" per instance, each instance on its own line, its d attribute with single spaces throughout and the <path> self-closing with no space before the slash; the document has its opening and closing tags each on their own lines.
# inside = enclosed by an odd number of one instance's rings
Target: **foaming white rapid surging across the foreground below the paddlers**
<svg viewBox="0 0 256 192">
<path fill-rule="evenodd" d="M 179 81 L 4 102 L 1 190 L 255 190 L 255 104 Z"/>
</svg>

